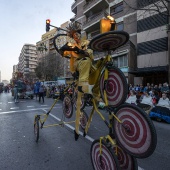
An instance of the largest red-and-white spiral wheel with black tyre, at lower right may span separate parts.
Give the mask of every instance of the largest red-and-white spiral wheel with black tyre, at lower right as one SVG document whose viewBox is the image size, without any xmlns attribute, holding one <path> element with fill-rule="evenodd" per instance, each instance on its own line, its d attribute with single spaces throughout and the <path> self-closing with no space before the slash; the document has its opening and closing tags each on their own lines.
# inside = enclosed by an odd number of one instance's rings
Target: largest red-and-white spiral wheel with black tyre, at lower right
<svg viewBox="0 0 170 170">
<path fill-rule="evenodd" d="M 114 113 L 122 122 L 113 119 L 113 132 L 121 148 L 137 158 L 149 157 L 157 145 L 154 124 L 137 106 L 123 104 Z"/>
</svg>

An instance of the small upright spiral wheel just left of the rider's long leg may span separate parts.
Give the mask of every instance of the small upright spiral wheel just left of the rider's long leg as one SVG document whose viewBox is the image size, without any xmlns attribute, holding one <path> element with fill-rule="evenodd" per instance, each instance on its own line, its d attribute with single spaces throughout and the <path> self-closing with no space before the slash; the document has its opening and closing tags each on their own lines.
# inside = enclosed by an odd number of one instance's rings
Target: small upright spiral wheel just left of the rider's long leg
<svg viewBox="0 0 170 170">
<path fill-rule="evenodd" d="M 66 118 L 71 118 L 73 115 L 73 105 L 69 95 L 65 95 L 63 99 L 63 114 Z"/>
</svg>

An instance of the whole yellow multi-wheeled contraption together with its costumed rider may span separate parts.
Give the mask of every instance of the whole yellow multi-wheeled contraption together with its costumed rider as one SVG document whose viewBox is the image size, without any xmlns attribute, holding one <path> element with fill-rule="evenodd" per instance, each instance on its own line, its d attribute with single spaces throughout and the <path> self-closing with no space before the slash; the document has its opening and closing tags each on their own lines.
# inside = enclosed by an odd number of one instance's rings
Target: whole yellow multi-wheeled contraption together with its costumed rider
<svg viewBox="0 0 170 170">
<path fill-rule="evenodd" d="M 36 142 L 39 140 L 39 125 L 42 129 L 74 122 L 74 137 L 77 141 L 79 138 L 79 125 L 80 122 L 82 123 L 82 112 L 85 113 L 83 107 L 81 107 L 83 98 L 88 102 L 90 101 L 92 106 L 89 118 L 83 128 L 83 136 L 85 137 L 88 133 L 95 112 L 109 129 L 108 135 L 101 136 L 92 142 L 90 155 L 93 168 L 96 170 L 104 169 L 105 167 L 112 170 L 137 169 L 136 158 L 146 158 L 154 152 L 157 136 L 154 124 L 148 115 L 139 107 L 125 104 L 128 93 L 126 77 L 119 68 L 114 66 L 111 56 L 112 51 L 123 46 L 129 40 L 129 34 L 124 31 L 115 31 L 115 21 L 110 16 L 106 19 L 101 19 L 101 34 L 95 36 L 90 42 L 81 39 L 80 26 L 78 22 L 71 22 L 67 30 L 64 30 L 67 34 L 57 34 L 53 40 L 56 51 L 63 57 L 70 59 L 70 71 L 74 77 L 78 78 L 78 81 L 75 80 L 70 85 L 73 85 L 78 91 L 76 120 L 64 122 L 62 118 L 59 124 L 44 126 L 48 115 L 59 99 L 55 100 L 46 114 L 35 115 L 34 134 Z M 58 49 L 56 39 L 59 36 L 69 36 L 74 42 L 66 43 Z M 95 67 L 92 65 L 93 50 L 106 52 L 106 56 L 99 59 Z M 66 91 L 67 89 L 65 89 Z M 105 104 L 108 120 L 98 109 L 100 98 Z M 72 99 L 66 94 L 63 99 L 63 115 L 66 118 L 71 118 L 72 116 L 73 103 L 74 97 Z"/>
</svg>

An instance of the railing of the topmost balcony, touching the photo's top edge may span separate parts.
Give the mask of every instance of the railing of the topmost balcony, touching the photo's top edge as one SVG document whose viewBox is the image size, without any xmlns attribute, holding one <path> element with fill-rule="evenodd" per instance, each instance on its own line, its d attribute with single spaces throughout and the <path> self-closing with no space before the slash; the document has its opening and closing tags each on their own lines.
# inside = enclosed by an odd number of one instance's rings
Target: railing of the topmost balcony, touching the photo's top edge
<svg viewBox="0 0 170 170">
<path fill-rule="evenodd" d="M 91 10 L 93 8 L 99 9 L 101 7 L 105 8 L 109 6 L 109 2 L 107 0 L 91 0 L 88 1 L 84 6 L 84 12 L 86 13 L 87 11 Z"/>
</svg>

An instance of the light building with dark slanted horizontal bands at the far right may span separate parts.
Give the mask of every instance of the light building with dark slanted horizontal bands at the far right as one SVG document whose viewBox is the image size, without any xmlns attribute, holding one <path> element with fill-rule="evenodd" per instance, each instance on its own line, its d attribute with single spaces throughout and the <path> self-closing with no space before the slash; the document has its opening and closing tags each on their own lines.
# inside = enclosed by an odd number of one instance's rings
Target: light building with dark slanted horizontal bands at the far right
<svg viewBox="0 0 170 170">
<path fill-rule="evenodd" d="M 157 6 L 151 1 L 137 1 L 138 9 L 159 8 L 160 11 L 137 10 L 137 68 L 134 74 L 143 78 L 145 84 L 168 82 L 167 8 L 162 1 L 154 2 Z"/>
</svg>

